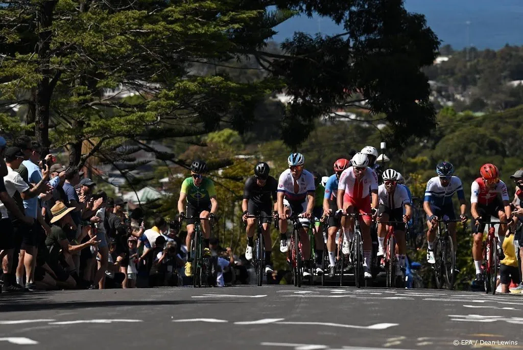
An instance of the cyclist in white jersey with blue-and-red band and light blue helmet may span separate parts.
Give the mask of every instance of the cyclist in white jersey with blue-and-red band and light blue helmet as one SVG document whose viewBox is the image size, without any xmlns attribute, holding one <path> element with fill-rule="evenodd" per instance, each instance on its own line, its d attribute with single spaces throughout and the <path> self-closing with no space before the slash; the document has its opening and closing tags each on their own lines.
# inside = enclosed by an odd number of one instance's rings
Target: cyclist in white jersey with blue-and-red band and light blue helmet
<svg viewBox="0 0 523 350">
<path fill-rule="evenodd" d="M 291 153 L 287 159 L 289 169 L 281 173 L 278 180 L 277 208 L 280 217 L 280 252 L 286 253 L 287 246 L 287 219 L 293 213 L 303 214 L 300 219 L 300 240 L 302 244 L 302 256 L 305 260 L 303 277 L 311 276 L 309 272 L 311 247 L 306 229 L 309 229 L 314 208 L 314 176 L 303 169 L 305 157 L 301 153 Z M 288 202 L 288 206 L 284 201 Z M 290 209 L 290 210 L 289 210 Z"/>
</svg>

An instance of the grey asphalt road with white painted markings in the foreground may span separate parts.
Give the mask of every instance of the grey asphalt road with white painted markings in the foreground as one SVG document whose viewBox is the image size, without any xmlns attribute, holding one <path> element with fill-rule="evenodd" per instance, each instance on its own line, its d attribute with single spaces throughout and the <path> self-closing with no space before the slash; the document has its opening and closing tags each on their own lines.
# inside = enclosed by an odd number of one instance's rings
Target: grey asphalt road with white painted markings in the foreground
<svg viewBox="0 0 523 350">
<path fill-rule="evenodd" d="M 4 294 L 0 348 L 523 349 L 522 298 L 291 286 Z"/>
</svg>

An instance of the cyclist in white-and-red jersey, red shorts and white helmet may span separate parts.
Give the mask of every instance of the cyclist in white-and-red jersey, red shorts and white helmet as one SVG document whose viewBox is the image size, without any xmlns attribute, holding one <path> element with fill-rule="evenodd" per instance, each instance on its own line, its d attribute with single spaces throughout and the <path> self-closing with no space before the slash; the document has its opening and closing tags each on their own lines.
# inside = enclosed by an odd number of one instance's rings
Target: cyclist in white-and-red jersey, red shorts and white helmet
<svg viewBox="0 0 523 350">
<path fill-rule="evenodd" d="M 354 209 L 364 214 L 360 221 L 361 238 L 363 240 L 363 270 L 365 278 L 372 278 L 370 274 L 370 262 L 372 252 L 372 241 L 370 237 L 371 216 L 368 213 L 376 213 L 378 208 L 378 176 L 368 167 L 369 159 L 366 154 L 356 153 L 352 159 L 353 166 L 343 171 L 339 177 L 337 213 L 343 211 L 351 214 Z M 371 203 L 372 197 L 372 203 Z M 354 220 L 342 218 L 342 228 L 345 240 L 342 245 L 343 254 L 349 254 L 349 240 L 351 233 L 354 233 Z"/>
</svg>

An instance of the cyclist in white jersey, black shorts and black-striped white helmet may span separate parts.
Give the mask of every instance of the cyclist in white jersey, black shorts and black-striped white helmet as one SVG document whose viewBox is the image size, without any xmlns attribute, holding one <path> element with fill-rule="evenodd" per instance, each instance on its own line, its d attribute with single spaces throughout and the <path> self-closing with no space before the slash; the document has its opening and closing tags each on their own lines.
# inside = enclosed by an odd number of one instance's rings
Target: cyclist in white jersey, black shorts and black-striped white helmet
<svg viewBox="0 0 523 350">
<path fill-rule="evenodd" d="M 407 243 L 405 240 L 405 224 L 411 218 L 412 206 L 408 198 L 406 187 L 397 186 L 398 173 L 393 169 L 383 172 L 383 184 L 378 187 L 378 197 L 380 205 L 378 209 L 377 221 L 397 221 L 394 223 L 394 235 L 397 247 L 396 276 L 402 276 L 405 270 L 405 254 L 407 253 Z M 405 209 L 405 214 L 403 214 Z M 378 223 L 378 256 L 383 256 L 383 242 L 385 240 L 387 226 Z M 396 251 L 396 249 L 394 249 Z M 381 253 L 381 254 L 380 254 Z"/>
</svg>

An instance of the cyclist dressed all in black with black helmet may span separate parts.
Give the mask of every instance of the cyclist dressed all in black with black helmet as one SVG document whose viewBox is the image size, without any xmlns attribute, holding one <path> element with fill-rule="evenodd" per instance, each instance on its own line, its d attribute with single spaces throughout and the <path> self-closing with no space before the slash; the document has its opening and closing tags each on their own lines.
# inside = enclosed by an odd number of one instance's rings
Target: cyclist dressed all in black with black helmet
<svg viewBox="0 0 523 350">
<path fill-rule="evenodd" d="M 277 180 L 269 176 L 269 165 L 264 162 L 256 164 L 254 168 L 254 176 L 251 176 L 245 182 L 243 191 L 242 220 L 247 221 L 247 249 L 245 250 L 245 258 L 251 261 L 253 258 L 254 233 L 256 231 L 255 219 L 248 219 L 248 215 L 260 216 L 274 216 L 276 211 L 276 190 L 278 187 Z M 272 273 L 271 262 L 271 247 L 272 241 L 270 239 L 269 219 L 261 219 L 264 229 L 265 241 L 265 273 Z"/>
</svg>

